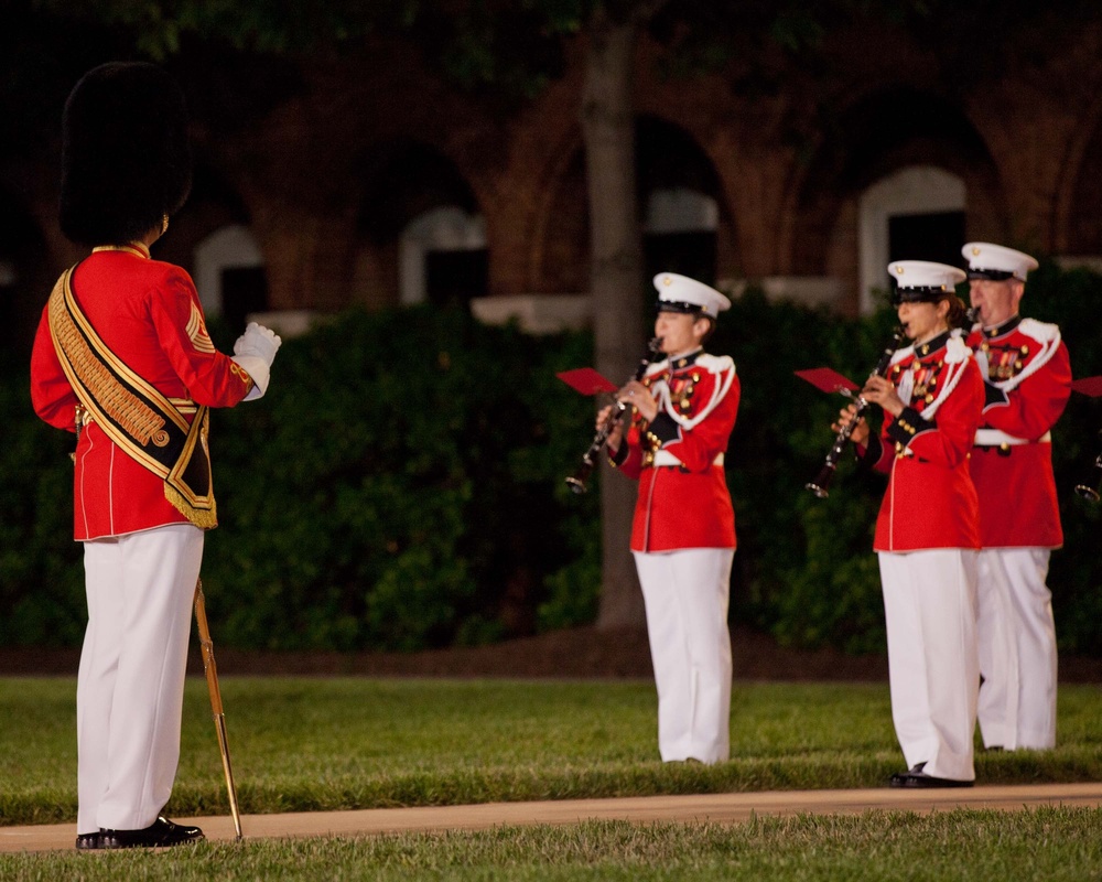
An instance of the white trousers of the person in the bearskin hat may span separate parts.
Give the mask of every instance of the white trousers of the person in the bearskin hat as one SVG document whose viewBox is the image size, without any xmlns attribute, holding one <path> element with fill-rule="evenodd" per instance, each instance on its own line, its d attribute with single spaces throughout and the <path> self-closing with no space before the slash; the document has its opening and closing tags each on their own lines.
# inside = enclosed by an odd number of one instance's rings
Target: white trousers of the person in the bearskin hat
<svg viewBox="0 0 1102 882">
<path fill-rule="evenodd" d="M 172 524 L 84 544 L 77 832 L 140 830 L 172 793 L 203 530 Z"/>
</svg>

